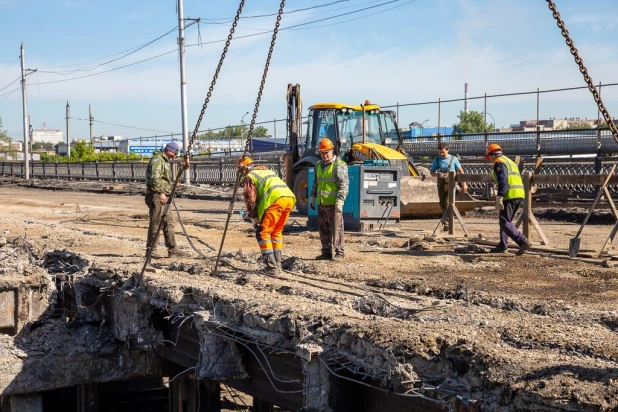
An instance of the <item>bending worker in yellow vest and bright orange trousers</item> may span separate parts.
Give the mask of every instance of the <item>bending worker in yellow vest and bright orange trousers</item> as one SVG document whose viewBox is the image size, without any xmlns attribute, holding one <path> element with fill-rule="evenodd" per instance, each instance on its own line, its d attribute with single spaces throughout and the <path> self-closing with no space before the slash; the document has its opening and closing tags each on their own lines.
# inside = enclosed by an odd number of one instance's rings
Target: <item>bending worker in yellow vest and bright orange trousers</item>
<svg viewBox="0 0 618 412">
<path fill-rule="evenodd" d="M 248 157 L 238 159 L 236 166 L 245 174 L 245 204 L 266 270 L 274 275 L 280 274 L 283 270 L 283 227 L 296 204 L 296 197 L 285 182 L 266 166 L 255 166 Z"/>
</svg>

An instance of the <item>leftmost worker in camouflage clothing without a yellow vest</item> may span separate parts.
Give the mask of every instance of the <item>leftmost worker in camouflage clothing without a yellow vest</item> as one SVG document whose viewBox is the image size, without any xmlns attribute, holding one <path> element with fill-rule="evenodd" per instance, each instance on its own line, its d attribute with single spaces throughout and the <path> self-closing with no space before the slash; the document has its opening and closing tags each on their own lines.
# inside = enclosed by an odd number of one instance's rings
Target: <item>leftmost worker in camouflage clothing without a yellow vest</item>
<svg viewBox="0 0 618 412">
<path fill-rule="evenodd" d="M 146 253 L 153 249 L 151 257 L 164 258 L 165 256 L 157 252 L 159 237 L 157 229 L 163 217 L 163 209 L 168 201 L 168 196 L 172 191 L 172 170 L 170 160 L 173 160 L 180 152 L 178 142 L 169 142 L 161 150 L 152 153 L 148 167 L 146 168 L 146 198 L 145 202 L 149 209 L 150 223 L 148 224 L 148 239 L 146 240 Z M 189 157 L 185 154 L 184 169 L 189 168 Z M 172 214 L 165 216 L 163 221 L 163 238 L 167 247 L 169 257 L 184 257 L 187 253 L 182 252 L 176 245 L 174 234 L 174 219 Z"/>
</svg>

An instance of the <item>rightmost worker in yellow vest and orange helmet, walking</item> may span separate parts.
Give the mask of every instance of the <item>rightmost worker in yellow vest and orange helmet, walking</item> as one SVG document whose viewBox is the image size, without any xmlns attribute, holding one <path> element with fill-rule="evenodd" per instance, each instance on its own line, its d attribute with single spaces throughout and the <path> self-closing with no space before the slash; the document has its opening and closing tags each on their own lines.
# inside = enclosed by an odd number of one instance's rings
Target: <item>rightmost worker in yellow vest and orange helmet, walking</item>
<svg viewBox="0 0 618 412">
<path fill-rule="evenodd" d="M 496 210 L 500 212 L 500 242 L 490 252 L 507 253 L 511 238 L 519 246 L 516 255 L 523 255 L 530 248 L 530 241 L 513 224 L 513 216 L 525 198 L 519 168 L 504 156 L 502 148 L 495 143 L 487 146 L 485 160 L 493 163 L 491 177 L 498 188 Z"/>
</svg>

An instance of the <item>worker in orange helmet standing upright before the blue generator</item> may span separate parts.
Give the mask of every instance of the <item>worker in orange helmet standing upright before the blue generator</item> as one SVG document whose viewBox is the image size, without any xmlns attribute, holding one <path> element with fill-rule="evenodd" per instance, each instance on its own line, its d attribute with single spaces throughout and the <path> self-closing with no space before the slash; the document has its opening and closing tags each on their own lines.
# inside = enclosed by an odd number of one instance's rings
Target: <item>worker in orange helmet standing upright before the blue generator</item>
<svg viewBox="0 0 618 412">
<path fill-rule="evenodd" d="M 319 260 L 343 260 L 343 203 L 348 195 L 348 166 L 334 154 L 330 139 L 320 140 L 319 160 L 315 165 L 315 179 L 309 197 L 309 207 L 315 210 L 318 200 L 318 231 L 322 242 Z M 335 248 L 333 257 L 332 248 Z"/>
</svg>

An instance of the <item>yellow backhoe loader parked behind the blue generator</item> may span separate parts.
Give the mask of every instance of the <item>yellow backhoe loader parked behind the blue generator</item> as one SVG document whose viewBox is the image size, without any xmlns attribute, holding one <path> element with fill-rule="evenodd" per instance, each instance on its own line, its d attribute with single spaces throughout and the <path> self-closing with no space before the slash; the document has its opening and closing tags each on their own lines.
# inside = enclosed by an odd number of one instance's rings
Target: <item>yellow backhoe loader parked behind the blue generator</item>
<svg viewBox="0 0 618 412">
<path fill-rule="evenodd" d="M 309 108 L 303 122 L 298 84 L 288 85 L 287 102 L 290 149 L 285 162 L 286 182 L 293 188 L 300 213 L 307 214 L 308 211 L 308 192 L 311 190 L 308 187 L 308 168 L 314 167 L 320 159 L 317 147 L 321 139 L 327 138 L 332 140 L 335 154 L 348 164 L 376 160 L 401 169 L 402 217 L 441 215 L 436 180 L 428 176 L 429 173 L 422 173 L 405 153 L 395 112 L 382 110 L 369 101 L 360 105 L 317 103 Z M 306 134 L 301 144 L 303 124 L 306 124 Z M 388 147 L 393 143 L 397 144 L 396 149 Z"/>
</svg>

